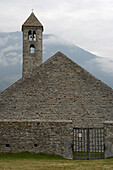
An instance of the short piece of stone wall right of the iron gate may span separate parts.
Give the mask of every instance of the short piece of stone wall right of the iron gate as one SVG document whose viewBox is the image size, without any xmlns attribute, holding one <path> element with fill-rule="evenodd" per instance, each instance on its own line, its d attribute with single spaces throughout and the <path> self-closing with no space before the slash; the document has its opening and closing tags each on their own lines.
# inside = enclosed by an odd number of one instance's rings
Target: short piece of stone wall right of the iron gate
<svg viewBox="0 0 113 170">
<path fill-rule="evenodd" d="M 105 158 L 113 157 L 113 121 L 104 122 Z"/>
</svg>

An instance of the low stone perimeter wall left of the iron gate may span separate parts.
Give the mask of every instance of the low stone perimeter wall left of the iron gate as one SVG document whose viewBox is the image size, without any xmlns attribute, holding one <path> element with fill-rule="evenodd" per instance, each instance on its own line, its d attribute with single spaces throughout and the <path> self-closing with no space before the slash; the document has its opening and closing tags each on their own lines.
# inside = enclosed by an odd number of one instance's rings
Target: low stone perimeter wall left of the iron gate
<svg viewBox="0 0 113 170">
<path fill-rule="evenodd" d="M 0 153 L 31 152 L 72 158 L 72 121 L 0 121 Z"/>
</svg>

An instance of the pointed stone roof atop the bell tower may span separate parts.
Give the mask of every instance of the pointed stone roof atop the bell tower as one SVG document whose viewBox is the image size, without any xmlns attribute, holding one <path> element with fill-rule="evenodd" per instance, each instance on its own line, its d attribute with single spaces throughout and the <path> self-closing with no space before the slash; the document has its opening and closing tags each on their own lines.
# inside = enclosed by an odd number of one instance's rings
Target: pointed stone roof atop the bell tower
<svg viewBox="0 0 113 170">
<path fill-rule="evenodd" d="M 30 26 L 31 27 L 42 27 L 42 30 L 43 30 L 43 25 L 36 18 L 35 14 L 33 12 L 28 17 L 28 19 L 24 22 L 24 24 L 22 25 L 22 31 L 23 31 L 23 27 L 30 27 Z"/>
</svg>

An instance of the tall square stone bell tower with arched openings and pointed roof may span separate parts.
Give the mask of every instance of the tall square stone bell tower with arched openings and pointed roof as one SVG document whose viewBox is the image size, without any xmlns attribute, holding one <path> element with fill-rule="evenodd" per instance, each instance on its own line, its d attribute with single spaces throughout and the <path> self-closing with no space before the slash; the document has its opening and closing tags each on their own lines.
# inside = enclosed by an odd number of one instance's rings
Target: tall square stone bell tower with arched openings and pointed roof
<svg viewBox="0 0 113 170">
<path fill-rule="evenodd" d="M 32 12 L 22 25 L 23 31 L 23 76 L 42 64 L 43 26 Z"/>
</svg>

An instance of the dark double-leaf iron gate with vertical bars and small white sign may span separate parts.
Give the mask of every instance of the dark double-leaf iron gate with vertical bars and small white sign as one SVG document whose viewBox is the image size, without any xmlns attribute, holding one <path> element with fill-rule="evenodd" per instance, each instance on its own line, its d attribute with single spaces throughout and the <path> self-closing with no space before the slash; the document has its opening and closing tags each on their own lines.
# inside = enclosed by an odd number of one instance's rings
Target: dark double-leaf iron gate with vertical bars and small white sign
<svg viewBox="0 0 113 170">
<path fill-rule="evenodd" d="M 74 128 L 73 129 L 73 158 L 74 159 L 103 159 L 104 158 L 104 129 L 103 128 Z"/>
</svg>

